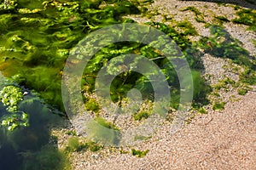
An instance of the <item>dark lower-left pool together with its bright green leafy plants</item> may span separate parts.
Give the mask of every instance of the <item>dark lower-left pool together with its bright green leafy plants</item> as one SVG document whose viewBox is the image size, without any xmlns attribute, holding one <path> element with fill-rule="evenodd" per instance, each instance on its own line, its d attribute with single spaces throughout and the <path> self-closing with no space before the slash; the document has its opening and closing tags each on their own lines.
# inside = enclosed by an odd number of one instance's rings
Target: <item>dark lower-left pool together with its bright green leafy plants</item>
<svg viewBox="0 0 256 170">
<path fill-rule="evenodd" d="M 18 86 L 5 85 L 1 92 L 8 88 L 9 92 L 18 91 L 17 94 L 23 91 Z M 65 156 L 53 146 L 45 145 L 49 144 L 49 127 L 60 121 L 60 116 L 56 114 L 58 111 L 55 113 L 51 106 L 45 105 L 42 99 L 31 93 L 4 97 L 5 101 L 11 101 L 7 104 L 18 102 L 15 105 L 0 104 L 1 168 L 64 169 Z M 9 106 L 15 110 L 10 110 Z"/>
</svg>

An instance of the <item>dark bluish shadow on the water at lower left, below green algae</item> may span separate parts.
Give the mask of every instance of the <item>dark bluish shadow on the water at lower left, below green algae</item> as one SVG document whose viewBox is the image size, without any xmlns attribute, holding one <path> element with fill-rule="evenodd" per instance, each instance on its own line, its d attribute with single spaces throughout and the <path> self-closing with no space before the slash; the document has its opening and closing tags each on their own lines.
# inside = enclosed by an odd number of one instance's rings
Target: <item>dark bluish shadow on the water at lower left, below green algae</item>
<svg viewBox="0 0 256 170">
<path fill-rule="evenodd" d="M 61 160 L 61 156 L 57 147 L 50 146 L 45 150 L 44 146 L 49 145 L 50 127 L 54 124 L 55 127 L 64 127 L 62 124 L 64 118 L 58 116 L 56 114 L 58 111 L 54 111 L 49 105 L 44 105 L 42 99 L 32 94 L 26 95 L 20 102 L 19 110 L 29 115 L 29 127 L 18 127 L 13 132 L 0 127 L 0 169 L 59 169 L 61 161 L 58 160 Z M 2 104 L 0 111 L 6 112 Z M 42 155 L 53 157 L 42 158 Z M 44 165 L 45 159 L 55 160 L 56 165 L 49 165 L 51 161 L 47 163 L 48 165 Z M 43 163 L 38 165 L 38 160 L 43 160 Z"/>
</svg>

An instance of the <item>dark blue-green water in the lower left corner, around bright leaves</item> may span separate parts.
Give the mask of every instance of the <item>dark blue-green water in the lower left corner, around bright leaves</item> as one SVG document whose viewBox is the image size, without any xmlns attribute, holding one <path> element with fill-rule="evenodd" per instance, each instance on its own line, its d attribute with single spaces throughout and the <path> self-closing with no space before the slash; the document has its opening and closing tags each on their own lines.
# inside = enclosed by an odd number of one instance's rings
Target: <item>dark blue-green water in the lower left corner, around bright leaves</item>
<svg viewBox="0 0 256 170">
<path fill-rule="evenodd" d="M 10 83 L 3 81 L 3 77 L 1 80 L 1 87 L 10 85 Z M 29 126 L 20 126 L 11 131 L 7 127 L 0 127 L 1 169 L 27 169 L 25 168 L 27 164 L 36 165 L 37 163 L 30 158 L 31 156 L 39 156 L 38 150 L 49 143 L 49 127 L 54 123 L 58 124 L 58 122 L 61 125 L 61 117 L 58 115 L 60 111 L 44 104 L 43 99 L 38 98 L 28 89 L 23 88 L 23 91 L 26 92 L 26 96 L 19 103 L 18 111 L 24 111 L 28 114 Z M 4 116 L 13 114 L 6 111 L 6 106 L 2 103 L 0 104 L 0 113 L 1 121 Z M 18 112 L 16 113 L 18 114 Z M 53 159 L 55 158 L 53 157 Z"/>
</svg>

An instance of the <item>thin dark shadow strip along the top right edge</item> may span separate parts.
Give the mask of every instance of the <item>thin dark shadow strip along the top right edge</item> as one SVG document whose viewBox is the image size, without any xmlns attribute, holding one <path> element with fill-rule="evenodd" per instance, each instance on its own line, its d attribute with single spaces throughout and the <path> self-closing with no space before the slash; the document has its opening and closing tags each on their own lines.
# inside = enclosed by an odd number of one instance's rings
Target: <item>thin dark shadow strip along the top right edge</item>
<svg viewBox="0 0 256 170">
<path fill-rule="evenodd" d="M 182 1 L 195 1 L 195 0 L 182 0 Z M 230 4 L 239 5 L 239 6 L 244 7 L 244 8 L 256 9 L 256 1 L 255 0 L 201 0 L 201 2 L 230 3 Z"/>
</svg>

